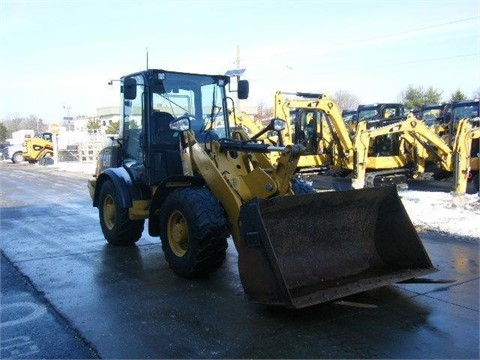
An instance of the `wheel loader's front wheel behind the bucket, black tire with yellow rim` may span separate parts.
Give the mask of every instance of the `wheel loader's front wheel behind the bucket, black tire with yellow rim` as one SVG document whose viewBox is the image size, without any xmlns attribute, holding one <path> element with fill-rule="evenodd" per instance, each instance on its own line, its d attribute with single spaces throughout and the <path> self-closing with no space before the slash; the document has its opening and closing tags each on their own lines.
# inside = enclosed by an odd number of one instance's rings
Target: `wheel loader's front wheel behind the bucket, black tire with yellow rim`
<svg viewBox="0 0 480 360">
<path fill-rule="evenodd" d="M 205 277 L 222 266 L 228 246 L 227 218 L 207 188 L 172 191 L 159 221 L 165 260 L 177 275 Z"/>
</svg>

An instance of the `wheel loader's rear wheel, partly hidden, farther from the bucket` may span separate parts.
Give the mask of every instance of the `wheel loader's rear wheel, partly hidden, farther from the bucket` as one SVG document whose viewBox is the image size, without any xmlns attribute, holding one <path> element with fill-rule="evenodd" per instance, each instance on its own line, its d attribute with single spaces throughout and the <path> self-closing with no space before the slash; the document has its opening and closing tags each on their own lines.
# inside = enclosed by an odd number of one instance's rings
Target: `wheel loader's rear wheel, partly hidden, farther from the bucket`
<svg viewBox="0 0 480 360">
<path fill-rule="evenodd" d="M 128 209 L 120 208 L 118 194 L 112 181 L 102 184 L 99 194 L 98 214 L 103 235 L 109 244 L 129 246 L 142 236 L 145 220 L 130 220 Z"/>
</svg>

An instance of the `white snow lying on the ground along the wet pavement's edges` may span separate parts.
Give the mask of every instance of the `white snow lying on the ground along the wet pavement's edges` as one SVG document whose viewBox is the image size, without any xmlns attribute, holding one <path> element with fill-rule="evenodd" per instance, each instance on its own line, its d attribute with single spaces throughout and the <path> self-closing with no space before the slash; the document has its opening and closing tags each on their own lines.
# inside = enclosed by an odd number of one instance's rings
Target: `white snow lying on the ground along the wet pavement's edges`
<svg viewBox="0 0 480 360">
<path fill-rule="evenodd" d="M 95 164 L 91 163 L 58 163 L 52 167 L 84 174 L 95 172 Z M 444 192 L 401 190 L 399 195 L 417 228 L 480 241 L 480 195 L 466 194 L 464 203 L 458 206 L 453 196 Z"/>
</svg>

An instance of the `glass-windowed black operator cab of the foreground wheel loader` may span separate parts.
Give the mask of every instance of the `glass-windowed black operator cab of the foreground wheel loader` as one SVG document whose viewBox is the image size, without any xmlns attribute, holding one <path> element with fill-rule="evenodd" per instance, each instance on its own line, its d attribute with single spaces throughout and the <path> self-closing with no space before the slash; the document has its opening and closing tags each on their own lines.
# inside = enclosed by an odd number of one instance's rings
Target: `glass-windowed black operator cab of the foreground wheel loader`
<svg viewBox="0 0 480 360">
<path fill-rule="evenodd" d="M 182 132 L 170 128 L 175 119 L 187 118 L 205 148 L 211 141 L 229 137 L 230 77 L 147 70 L 122 80 L 123 164 L 140 183 L 151 186 L 183 175 Z M 238 98 L 246 98 L 248 82 L 239 80 L 237 85 Z"/>
</svg>

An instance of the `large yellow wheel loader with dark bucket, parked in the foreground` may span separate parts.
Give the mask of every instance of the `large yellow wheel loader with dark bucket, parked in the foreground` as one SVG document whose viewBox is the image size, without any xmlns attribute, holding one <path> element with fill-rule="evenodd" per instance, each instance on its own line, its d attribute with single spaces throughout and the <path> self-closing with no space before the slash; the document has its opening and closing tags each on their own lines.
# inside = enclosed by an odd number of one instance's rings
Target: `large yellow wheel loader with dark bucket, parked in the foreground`
<svg viewBox="0 0 480 360">
<path fill-rule="evenodd" d="M 294 179 L 303 146 L 230 127 L 230 80 L 153 69 L 121 78 L 120 137 L 88 181 L 110 244 L 135 243 L 148 219 L 170 268 L 195 278 L 222 266 L 231 235 L 247 300 L 290 308 L 436 271 L 395 187 L 316 193 Z M 248 82 L 236 84 L 245 99 Z M 273 119 L 261 132 L 284 126 Z"/>
</svg>

